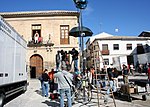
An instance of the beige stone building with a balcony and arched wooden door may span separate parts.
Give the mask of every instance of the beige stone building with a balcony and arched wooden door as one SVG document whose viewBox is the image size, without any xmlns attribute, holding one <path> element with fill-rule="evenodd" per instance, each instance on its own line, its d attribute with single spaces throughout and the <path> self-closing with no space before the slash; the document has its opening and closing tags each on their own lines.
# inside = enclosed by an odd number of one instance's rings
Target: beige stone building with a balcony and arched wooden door
<svg viewBox="0 0 150 107">
<path fill-rule="evenodd" d="M 58 50 L 79 49 L 78 38 L 69 36 L 69 30 L 78 26 L 76 11 L 5 12 L 0 15 L 27 41 L 26 63 L 30 78 L 38 78 L 45 68 L 54 68 Z M 69 60 L 72 60 L 71 55 Z"/>
</svg>

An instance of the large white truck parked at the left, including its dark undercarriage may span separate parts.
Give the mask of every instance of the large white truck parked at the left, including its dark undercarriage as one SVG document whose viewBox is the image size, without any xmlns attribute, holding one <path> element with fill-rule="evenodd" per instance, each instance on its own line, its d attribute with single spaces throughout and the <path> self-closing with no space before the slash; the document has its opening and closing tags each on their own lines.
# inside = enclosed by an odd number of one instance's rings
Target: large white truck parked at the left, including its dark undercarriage
<svg viewBox="0 0 150 107">
<path fill-rule="evenodd" d="M 0 107 L 27 90 L 26 41 L 0 16 Z"/>
</svg>

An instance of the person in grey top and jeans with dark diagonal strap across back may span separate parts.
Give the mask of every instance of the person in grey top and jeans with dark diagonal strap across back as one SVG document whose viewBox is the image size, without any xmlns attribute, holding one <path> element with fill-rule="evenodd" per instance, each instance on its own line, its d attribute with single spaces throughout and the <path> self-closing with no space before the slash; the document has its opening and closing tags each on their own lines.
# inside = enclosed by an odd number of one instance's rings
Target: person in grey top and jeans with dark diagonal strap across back
<svg viewBox="0 0 150 107">
<path fill-rule="evenodd" d="M 71 86 L 73 76 L 71 73 L 67 71 L 66 66 L 61 67 L 62 70 L 58 71 L 54 74 L 54 78 L 57 78 L 58 82 L 58 89 L 60 93 L 60 107 L 64 107 L 64 96 L 67 96 L 68 107 L 72 107 L 72 100 L 71 100 Z"/>
</svg>

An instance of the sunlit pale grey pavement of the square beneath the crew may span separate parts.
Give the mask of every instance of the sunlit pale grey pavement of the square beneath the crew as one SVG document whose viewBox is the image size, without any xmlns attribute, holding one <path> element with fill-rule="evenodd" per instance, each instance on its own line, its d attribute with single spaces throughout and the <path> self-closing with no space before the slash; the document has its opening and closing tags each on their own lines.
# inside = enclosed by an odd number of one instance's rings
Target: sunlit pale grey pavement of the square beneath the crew
<svg viewBox="0 0 150 107">
<path fill-rule="evenodd" d="M 122 77 L 119 77 L 120 79 Z M 130 76 L 129 79 L 146 79 L 147 76 L 140 75 L 140 76 Z M 149 89 L 150 90 L 150 89 Z M 73 107 L 98 107 L 98 100 L 97 94 L 93 94 L 93 99 L 87 105 L 83 103 L 76 102 Z M 109 99 L 108 104 L 104 104 L 103 98 L 100 99 L 100 106 L 99 107 L 114 107 L 112 103 L 112 99 Z M 133 98 L 132 102 L 128 102 L 124 100 L 124 98 L 115 98 L 116 107 L 150 107 L 150 96 L 147 96 L 147 100 L 143 101 L 141 96 L 138 95 Z M 58 101 L 51 101 L 47 97 L 41 96 L 40 90 L 40 82 L 37 79 L 29 80 L 29 86 L 26 93 L 21 94 L 14 98 L 13 100 L 9 101 L 5 104 L 4 107 L 59 107 Z"/>
</svg>

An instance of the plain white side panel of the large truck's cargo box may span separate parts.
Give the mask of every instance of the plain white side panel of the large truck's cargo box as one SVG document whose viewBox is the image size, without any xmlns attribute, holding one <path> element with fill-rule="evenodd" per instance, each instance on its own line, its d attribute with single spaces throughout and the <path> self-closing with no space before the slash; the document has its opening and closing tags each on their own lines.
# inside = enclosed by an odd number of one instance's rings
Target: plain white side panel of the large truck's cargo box
<svg viewBox="0 0 150 107">
<path fill-rule="evenodd" d="M 26 41 L 0 17 L 0 85 L 27 80 Z"/>
</svg>

